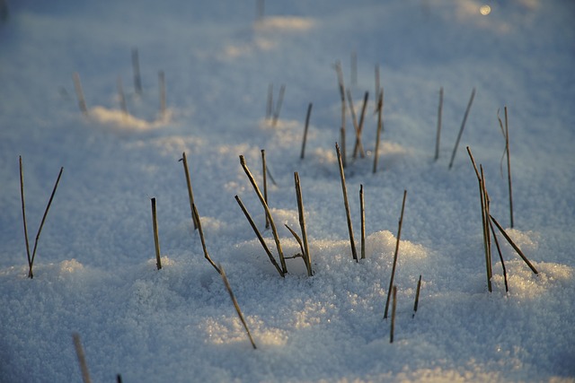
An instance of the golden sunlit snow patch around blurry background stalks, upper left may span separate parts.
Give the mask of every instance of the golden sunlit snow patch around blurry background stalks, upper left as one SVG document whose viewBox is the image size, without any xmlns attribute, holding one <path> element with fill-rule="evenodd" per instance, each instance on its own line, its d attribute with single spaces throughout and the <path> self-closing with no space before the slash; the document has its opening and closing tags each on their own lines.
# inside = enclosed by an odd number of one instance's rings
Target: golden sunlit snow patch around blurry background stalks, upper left
<svg viewBox="0 0 575 383">
<path fill-rule="evenodd" d="M 123 110 L 106 109 L 104 107 L 97 106 L 90 109 L 88 115 L 93 121 L 113 128 L 122 130 L 151 130 L 164 126 L 170 122 L 172 113 L 168 109 L 163 118 L 158 118 L 155 121 L 149 122 L 141 118 L 136 118 L 129 113 L 125 113 Z"/>
</svg>

